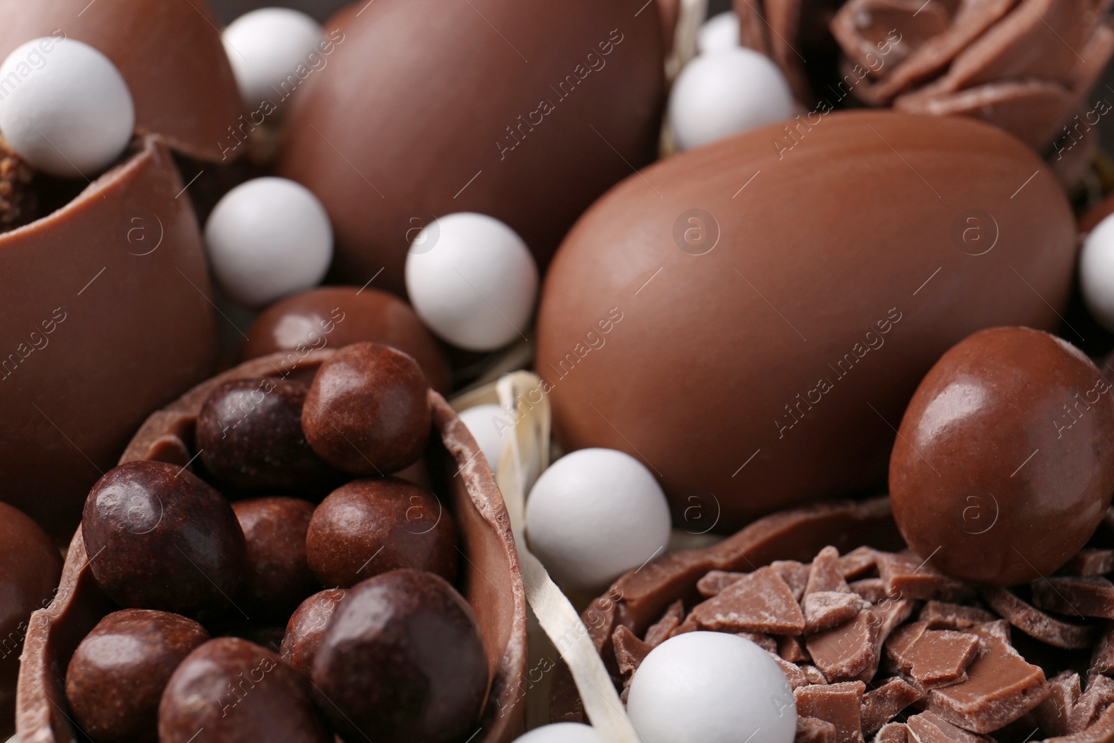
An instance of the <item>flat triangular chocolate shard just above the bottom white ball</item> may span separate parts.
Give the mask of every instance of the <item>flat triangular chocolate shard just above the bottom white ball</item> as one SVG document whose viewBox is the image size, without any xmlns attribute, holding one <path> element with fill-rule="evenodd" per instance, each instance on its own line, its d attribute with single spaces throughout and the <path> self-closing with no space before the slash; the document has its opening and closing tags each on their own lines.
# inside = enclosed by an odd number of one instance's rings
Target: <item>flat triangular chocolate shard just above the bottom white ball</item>
<svg viewBox="0 0 1114 743">
<path fill-rule="evenodd" d="M 761 567 L 697 604 L 692 619 L 703 629 L 799 635 L 804 615 L 785 581 Z"/>
</svg>

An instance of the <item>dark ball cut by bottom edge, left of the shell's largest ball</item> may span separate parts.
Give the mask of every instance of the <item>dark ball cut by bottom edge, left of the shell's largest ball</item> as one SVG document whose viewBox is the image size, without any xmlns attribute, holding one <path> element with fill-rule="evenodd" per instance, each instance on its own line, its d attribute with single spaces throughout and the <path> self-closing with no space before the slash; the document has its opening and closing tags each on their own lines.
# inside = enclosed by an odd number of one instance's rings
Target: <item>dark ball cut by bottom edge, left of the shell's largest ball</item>
<svg viewBox="0 0 1114 743">
<path fill-rule="evenodd" d="M 159 743 L 332 743 L 306 680 L 246 639 L 212 639 L 182 662 L 158 707 Z"/>
</svg>

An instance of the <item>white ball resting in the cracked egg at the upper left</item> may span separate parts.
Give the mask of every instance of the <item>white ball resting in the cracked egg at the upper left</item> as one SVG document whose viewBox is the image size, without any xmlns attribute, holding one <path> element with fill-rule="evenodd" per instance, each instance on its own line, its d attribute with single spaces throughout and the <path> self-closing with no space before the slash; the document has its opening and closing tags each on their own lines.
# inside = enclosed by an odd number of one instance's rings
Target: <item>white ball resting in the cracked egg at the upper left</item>
<svg viewBox="0 0 1114 743">
<path fill-rule="evenodd" d="M 0 133 L 35 168 L 96 175 L 120 156 L 133 129 L 128 84 L 87 43 L 33 39 L 0 65 Z"/>
</svg>

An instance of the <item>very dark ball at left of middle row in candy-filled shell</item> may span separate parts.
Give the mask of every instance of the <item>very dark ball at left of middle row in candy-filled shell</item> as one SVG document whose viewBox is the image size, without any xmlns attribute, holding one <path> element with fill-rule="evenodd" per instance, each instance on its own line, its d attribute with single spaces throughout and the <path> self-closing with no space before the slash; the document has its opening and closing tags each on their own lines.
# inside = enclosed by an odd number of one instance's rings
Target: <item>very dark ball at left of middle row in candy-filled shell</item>
<svg viewBox="0 0 1114 743">
<path fill-rule="evenodd" d="M 228 501 L 165 462 L 127 462 L 97 480 L 81 535 L 97 583 L 129 608 L 224 609 L 247 567 L 244 532 Z"/>
</svg>

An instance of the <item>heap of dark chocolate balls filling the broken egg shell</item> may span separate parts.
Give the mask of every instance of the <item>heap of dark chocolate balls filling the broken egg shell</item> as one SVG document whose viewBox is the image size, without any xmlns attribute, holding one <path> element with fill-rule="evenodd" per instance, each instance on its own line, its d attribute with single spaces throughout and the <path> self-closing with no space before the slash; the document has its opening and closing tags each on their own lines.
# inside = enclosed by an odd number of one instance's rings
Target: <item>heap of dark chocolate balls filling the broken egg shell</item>
<svg viewBox="0 0 1114 743">
<path fill-rule="evenodd" d="M 84 734 L 442 743 L 472 733 L 488 663 L 449 583 L 456 526 L 432 493 L 390 477 L 421 465 L 430 428 L 413 359 L 359 343 L 309 387 L 214 388 L 197 419 L 196 473 L 138 460 L 101 477 L 81 535 L 121 610 L 69 661 L 66 698 Z"/>
</svg>

